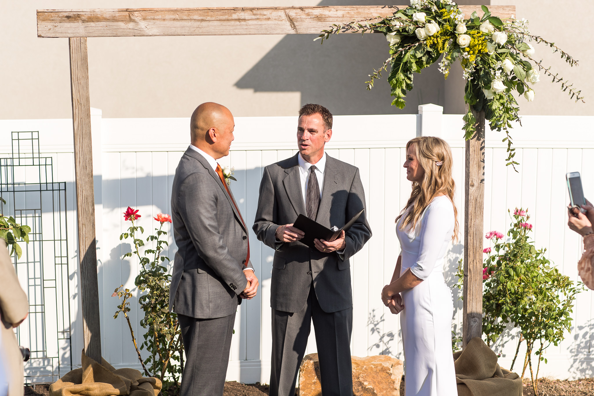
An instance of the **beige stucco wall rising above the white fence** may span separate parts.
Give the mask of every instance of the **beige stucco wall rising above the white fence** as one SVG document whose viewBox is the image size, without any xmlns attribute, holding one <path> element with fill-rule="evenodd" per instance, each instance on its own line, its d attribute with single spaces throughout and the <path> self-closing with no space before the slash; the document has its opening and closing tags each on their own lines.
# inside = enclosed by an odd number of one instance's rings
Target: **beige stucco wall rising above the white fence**
<svg viewBox="0 0 594 396">
<path fill-rule="evenodd" d="M 37 8 L 239 7 L 280 5 L 399 4 L 382 0 L 0 0 L 0 119 L 71 116 L 68 40 L 36 35 Z M 571 69 L 550 50 L 537 57 L 564 78 L 594 91 L 587 15 L 594 1 L 566 0 L 571 20 L 556 18 L 560 3 L 551 0 L 491 0 L 517 5 L 535 34 L 557 43 L 580 60 Z M 460 1 L 472 4 L 475 1 Z M 567 11 L 565 12 L 567 15 Z M 580 26 L 584 26 L 581 28 Z M 580 33 L 582 32 L 583 33 Z M 577 32 L 577 33 L 576 33 Z M 295 115 L 304 103 L 321 103 L 337 115 L 416 113 L 418 104 L 435 103 L 446 113 L 463 110 L 460 68 L 447 81 L 437 65 L 415 76 L 407 107 L 390 106 L 385 78 L 372 91 L 364 81 L 387 55 L 380 34 L 334 36 L 320 46 L 315 35 L 288 36 L 113 37 L 89 39 L 91 106 L 106 118 L 185 117 L 197 104 L 214 101 L 236 116 Z M 384 76 L 386 77 L 386 76 Z M 575 104 L 557 84 L 542 78 L 536 100 L 520 98 L 523 114 L 593 115 L 592 102 Z"/>
</svg>

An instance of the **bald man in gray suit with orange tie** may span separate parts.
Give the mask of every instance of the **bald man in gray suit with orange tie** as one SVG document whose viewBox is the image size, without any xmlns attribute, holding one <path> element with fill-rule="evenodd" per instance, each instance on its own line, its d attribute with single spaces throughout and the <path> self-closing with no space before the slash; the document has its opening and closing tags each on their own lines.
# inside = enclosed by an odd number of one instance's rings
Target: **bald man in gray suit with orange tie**
<svg viewBox="0 0 594 396">
<path fill-rule="evenodd" d="M 223 395 L 237 306 L 258 288 L 248 229 L 216 161 L 229 154 L 234 126 L 225 106 L 198 106 L 190 121 L 192 144 L 173 178 L 178 251 L 169 309 L 178 314 L 186 354 L 181 396 Z"/>
</svg>

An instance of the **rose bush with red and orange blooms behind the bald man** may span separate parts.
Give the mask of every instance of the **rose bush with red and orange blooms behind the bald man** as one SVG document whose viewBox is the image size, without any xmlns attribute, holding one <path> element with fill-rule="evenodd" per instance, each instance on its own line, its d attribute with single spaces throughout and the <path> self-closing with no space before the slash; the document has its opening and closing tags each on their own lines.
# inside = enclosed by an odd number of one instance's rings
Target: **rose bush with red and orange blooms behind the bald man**
<svg viewBox="0 0 594 396">
<path fill-rule="evenodd" d="M 141 319 L 140 325 L 147 329 L 140 350 L 146 349 L 150 353 L 149 357 L 144 359 L 144 362 L 140 356 L 134 332 L 127 316 L 127 312 L 130 311 L 128 299 L 132 296 L 132 293 L 129 289 L 122 289 L 123 285 L 112 294 L 112 296 L 122 299 L 122 303 L 118 306 L 118 311 L 113 318 L 117 318 L 120 312 L 124 313 L 128 320 L 138 359 L 143 365 L 145 373 L 150 375 L 150 372 L 151 375 L 164 381 L 164 388 L 168 387 L 168 381 L 172 381 L 175 385 L 173 388 L 179 390 L 179 380 L 184 371 L 184 344 L 182 343 L 177 315 L 174 312 L 169 312 L 171 275 L 168 274 L 167 268 L 162 265 L 165 260 L 169 261 L 169 258 L 161 255 L 168 243 L 166 240 L 160 239 L 161 236 L 167 235 L 167 232 L 163 231 L 163 224 L 171 223 L 171 217 L 162 213 L 154 217 L 154 220 L 158 221 L 160 226 L 154 229 L 154 235 L 146 238 L 146 242 L 154 242 L 155 248 L 146 249 L 144 254 L 140 253 L 140 249 L 144 246 L 144 240 L 138 235 L 138 233 L 143 234 L 144 229 L 134 224 L 138 217 L 140 217 L 138 210 L 134 211 L 128 207 L 128 210 L 124 213 L 124 218 L 131 221 L 132 226 L 128 228 L 128 232 L 122 233 L 119 239 L 132 239 L 134 249 L 132 252 L 125 254 L 124 258 L 135 255 L 142 265 L 134 284 L 139 292 L 144 292 L 138 298 L 138 303 L 144 311 L 144 318 Z"/>
</svg>

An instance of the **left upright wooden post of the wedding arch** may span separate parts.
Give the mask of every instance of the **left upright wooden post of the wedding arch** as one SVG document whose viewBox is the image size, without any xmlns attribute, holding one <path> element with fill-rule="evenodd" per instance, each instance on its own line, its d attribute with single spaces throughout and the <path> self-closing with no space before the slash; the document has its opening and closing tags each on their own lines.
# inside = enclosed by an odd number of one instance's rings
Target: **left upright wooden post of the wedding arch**
<svg viewBox="0 0 594 396">
<path fill-rule="evenodd" d="M 86 37 L 69 39 L 69 48 L 84 350 L 87 356 L 96 362 L 101 362 L 101 327 L 97 286 L 97 252 L 95 248 L 93 151 L 91 148 L 91 106 Z"/>
</svg>

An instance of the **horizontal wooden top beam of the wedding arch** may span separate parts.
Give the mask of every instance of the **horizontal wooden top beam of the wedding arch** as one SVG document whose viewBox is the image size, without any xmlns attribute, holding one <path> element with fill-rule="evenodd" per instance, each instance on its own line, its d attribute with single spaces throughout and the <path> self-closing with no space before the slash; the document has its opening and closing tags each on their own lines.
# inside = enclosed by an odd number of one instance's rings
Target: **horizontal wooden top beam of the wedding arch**
<svg viewBox="0 0 594 396">
<path fill-rule="evenodd" d="M 400 6 L 38 9 L 38 37 L 318 34 L 332 24 L 387 17 Z M 460 5 L 469 17 L 480 5 Z M 493 5 L 510 18 L 513 5 Z"/>
</svg>

